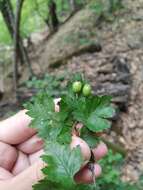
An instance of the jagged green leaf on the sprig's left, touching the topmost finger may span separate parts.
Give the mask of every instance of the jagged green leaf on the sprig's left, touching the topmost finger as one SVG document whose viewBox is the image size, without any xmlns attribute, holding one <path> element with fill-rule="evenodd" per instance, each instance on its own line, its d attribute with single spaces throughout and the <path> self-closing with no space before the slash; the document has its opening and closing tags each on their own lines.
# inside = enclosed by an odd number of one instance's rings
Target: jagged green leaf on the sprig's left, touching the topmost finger
<svg viewBox="0 0 143 190">
<path fill-rule="evenodd" d="M 55 140 L 63 128 L 63 121 L 67 117 L 66 112 L 55 112 L 53 98 L 47 94 L 40 94 L 34 99 L 34 103 L 26 106 L 27 114 L 33 118 L 31 127 L 38 130 L 42 139 Z"/>
</svg>

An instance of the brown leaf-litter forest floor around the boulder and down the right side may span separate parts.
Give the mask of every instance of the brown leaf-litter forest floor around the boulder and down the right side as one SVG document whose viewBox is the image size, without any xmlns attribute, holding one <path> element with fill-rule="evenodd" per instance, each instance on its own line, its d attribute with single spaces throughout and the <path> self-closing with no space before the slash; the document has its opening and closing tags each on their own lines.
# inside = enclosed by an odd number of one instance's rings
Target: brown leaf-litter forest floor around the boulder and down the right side
<svg viewBox="0 0 143 190">
<path fill-rule="evenodd" d="M 128 108 L 120 113 L 120 118 L 114 124 L 120 134 L 114 130 L 111 133 L 113 139 L 110 140 L 124 145 L 128 155 L 122 170 L 123 179 L 135 181 L 143 172 L 143 0 L 126 0 L 125 7 L 128 9 L 125 9 L 113 22 L 103 22 L 100 27 L 96 28 L 96 34 L 102 45 L 101 52 L 88 52 L 72 56 L 66 61 L 66 64 L 61 64 L 57 68 L 49 68 L 45 64 L 47 60 L 44 60 L 44 65 L 41 61 L 43 59 L 41 55 L 47 49 L 47 41 L 44 39 L 32 47 L 30 56 L 37 74 L 46 71 L 58 75 L 65 71 L 67 73 L 80 71 L 92 81 L 93 86 L 98 83 L 97 65 L 107 63 L 110 70 L 110 63 L 116 57 L 128 65 L 131 74 Z M 94 37 L 97 39 L 97 35 Z M 104 70 L 104 68 L 102 69 Z M 28 77 L 28 70 L 24 68 L 21 81 L 27 80 Z M 106 80 L 111 81 L 108 77 Z M 8 91 L 2 103 L 0 102 L 2 108 L 0 116 L 3 115 L 2 112 L 6 116 L 7 110 L 16 111 L 20 105 L 18 103 L 15 106 L 13 103 L 11 78 L 7 80 L 7 84 Z"/>
</svg>

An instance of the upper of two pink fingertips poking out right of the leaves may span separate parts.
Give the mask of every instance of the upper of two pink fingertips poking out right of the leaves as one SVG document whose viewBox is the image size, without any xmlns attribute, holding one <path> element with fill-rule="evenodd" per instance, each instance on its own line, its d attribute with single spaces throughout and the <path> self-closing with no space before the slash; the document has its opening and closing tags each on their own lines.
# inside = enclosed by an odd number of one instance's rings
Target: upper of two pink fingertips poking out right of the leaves
<svg viewBox="0 0 143 190">
<path fill-rule="evenodd" d="M 99 160 L 107 154 L 108 152 L 107 145 L 102 142 L 96 148 L 92 149 L 92 152 L 95 156 L 95 159 Z"/>
</svg>

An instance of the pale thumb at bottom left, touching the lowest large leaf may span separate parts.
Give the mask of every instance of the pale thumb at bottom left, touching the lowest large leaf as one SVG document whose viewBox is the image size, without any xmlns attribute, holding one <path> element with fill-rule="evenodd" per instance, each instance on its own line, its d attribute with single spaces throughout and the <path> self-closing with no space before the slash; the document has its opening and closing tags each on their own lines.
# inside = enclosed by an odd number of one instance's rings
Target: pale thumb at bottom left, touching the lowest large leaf
<svg viewBox="0 0 143 190">
<path fill-rule="evenodd" d="M 32 186 L 43 178 L 41 169 L 45 166 L 42 160 L 37 161 L 28 169 L 12 179 L 15 190 L 32 190 Z"/>
</svg>

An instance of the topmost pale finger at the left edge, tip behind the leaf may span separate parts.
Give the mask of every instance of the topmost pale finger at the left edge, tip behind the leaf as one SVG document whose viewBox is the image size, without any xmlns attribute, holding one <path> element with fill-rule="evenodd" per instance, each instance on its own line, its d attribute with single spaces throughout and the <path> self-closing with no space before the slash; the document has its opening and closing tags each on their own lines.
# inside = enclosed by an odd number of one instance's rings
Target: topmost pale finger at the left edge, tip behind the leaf
<svg viewBox="0 0 143 190">
<path fill-rule="evenodd" d="M 8 144 L 19 144 L 36 133 L 28 125 L 31 118 L 22 110 L 10 118 L 0 122 L 0 141 Z"/>
</svg>

